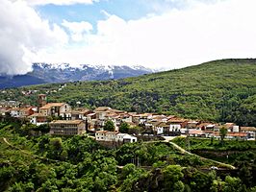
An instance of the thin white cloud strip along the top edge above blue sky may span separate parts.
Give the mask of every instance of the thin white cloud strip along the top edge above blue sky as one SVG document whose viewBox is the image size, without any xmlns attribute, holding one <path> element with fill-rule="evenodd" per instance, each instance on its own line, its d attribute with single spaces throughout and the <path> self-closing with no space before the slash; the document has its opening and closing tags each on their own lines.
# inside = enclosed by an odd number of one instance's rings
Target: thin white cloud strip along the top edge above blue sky
<svg viewBox="0 0 256 192">
<path fill-rule="evenodd" d="M 29 5 L 42 6 L 47 4 L 54 5 L 72 5 L 72 4 L 92 4 L 95 0 L 26 0 Z"/>
</svg>

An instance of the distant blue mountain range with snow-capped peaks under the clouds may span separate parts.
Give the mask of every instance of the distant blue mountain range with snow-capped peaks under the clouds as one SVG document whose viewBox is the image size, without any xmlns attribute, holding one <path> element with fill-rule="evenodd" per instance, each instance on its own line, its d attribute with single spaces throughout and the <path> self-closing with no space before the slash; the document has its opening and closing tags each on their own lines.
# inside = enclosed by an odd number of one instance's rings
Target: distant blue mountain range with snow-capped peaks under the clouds
<svg viewBox="0 0 256 192">
<path fill-rule="evenodd" d="M 88 65 L 71 66 L 68 63 L 34 63 L 33 71 L 26 75 L 0 77 L 0 88 L 30 84 L 100 81 L 136 77 L 154 72 L 143 66 Z"/>
</svg>

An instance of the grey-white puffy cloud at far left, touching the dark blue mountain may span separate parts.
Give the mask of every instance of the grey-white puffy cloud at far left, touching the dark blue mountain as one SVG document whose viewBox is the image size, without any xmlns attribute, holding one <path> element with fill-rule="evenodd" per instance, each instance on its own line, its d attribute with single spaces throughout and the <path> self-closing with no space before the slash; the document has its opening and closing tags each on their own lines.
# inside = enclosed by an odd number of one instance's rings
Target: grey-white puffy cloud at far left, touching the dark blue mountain
<svg viewBox="0 0 256 192">
<path fill-rule="evenodd" d="M 1 1 L 0 74 L 27 73 L 39 50 L 66 41 L 63 29 L 57 25 L 50 27 L 24 2 Z"/>
</svg>

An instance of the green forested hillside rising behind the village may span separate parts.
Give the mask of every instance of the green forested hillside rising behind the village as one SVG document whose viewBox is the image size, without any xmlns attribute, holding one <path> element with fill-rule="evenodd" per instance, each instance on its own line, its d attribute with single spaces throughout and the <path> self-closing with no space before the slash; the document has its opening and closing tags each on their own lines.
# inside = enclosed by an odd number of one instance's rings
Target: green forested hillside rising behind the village
<svg viewBox="0 0 256 192">
<path fill-rule="evenodd" d="M 79 101 L 88 108 L 110 106 L 256 126 L 256 60 L 216 60 L 136 78 L 68 83 L 59 88 L 60 84 L 43 84 L 18 90 L 54 90 L 48 92 L 49 101 L 72 106 Z M 16 91 L 9 90 L 1 97 L 24 99 Z M 25 99 L 36 101 L 36 97 Z"/>
</svg>

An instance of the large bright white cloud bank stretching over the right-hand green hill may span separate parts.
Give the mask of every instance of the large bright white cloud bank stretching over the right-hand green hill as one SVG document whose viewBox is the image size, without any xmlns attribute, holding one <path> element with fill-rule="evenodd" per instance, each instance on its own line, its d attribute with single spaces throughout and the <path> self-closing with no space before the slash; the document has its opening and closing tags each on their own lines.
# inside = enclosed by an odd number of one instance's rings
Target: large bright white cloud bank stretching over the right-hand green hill
<svg viewBox="0 0 256 192">
<path fill-rule="evenodd" d="M 195 2 L 195 1 L 194 1 Z M 208 60 L 256 58 L 256 1 L 194 3 L 190 9 L 124 21 L 99 21 L 84 45 L 44 55 L 48 61 L 180 68 Z M 46 57 L 47 56 L 47 57 Z"/>
</svg>

